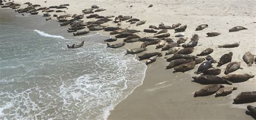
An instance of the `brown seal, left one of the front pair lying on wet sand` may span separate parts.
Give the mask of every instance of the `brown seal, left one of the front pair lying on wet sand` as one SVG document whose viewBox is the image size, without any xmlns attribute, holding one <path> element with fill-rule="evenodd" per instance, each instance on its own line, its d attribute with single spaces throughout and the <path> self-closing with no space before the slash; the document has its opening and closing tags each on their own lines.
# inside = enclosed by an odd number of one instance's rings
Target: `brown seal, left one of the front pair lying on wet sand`
<svg viewBox="0 0 256 120">
<path fill-rule="evenodd" d="M 212 95 L 217 92 L 220 88 L 223 88 L 223 85 L 208 85 L 204 88 L 200 89 L 199 91 L 194 92 L 194 97 L 197 96 L 208 96 Z"/>
</svg>

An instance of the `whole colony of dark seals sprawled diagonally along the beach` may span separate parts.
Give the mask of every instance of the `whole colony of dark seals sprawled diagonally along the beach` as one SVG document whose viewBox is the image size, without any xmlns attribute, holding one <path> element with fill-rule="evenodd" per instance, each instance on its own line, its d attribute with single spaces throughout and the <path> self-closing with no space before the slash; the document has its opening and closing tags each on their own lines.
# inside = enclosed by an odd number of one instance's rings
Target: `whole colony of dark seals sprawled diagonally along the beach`
<svg viewBox="0 0 256 120">
<path fill-rule="evenodd" d="M 19 4 L 15 4 L 12 2 L 5 3 L 2 7 L 10 7 L 15 9 L 16 12 L 19 13 L 30 13 L 30 14 L 38 14 L 38 12 L 44 13 L 45 17 L 52 16 L 53 12 L 65 12 L 64 10 L 58 9 L 68 9 L 69 5 L 55 5 L 49 7 L 39 7 L 41 5 L 33 5 L 32 3 L 24 3 L 28 4 L 27 7 L 23 9 L 19 9 Z M 153 5 L 150 5 L 153 7 Z M 53 9 L 53 10 L 52 10 Z M 252 66 L 255 57 L 250 52 L 247 51 L 244 56 L 233 56 L 233 52 L 235 52 L 235 48 L 239 47 L 240 42 L 230 42 L 230 43 L 217 43 L 218 48 L 215 49 L 229 49 L 232 50 L 230 53 L 221 54 L 218 58 L 213 58 L 210 56 L 211 53 L 214 52 L 213 47 L 204 48 L 204 51 L 201 53 L 197 53 L 197 56 L 190 55 L 194 52 L 198 44 L 200 44 L 199 35 L 193 34 L 189 39 L 186 37 L 184 32 L 187 27 L 192 27 L 190 25 L 182 25 L 182 23 L 170 25 L 165 25 L 163 22 L 160 22 L 159 25 L 150 25 L 148 28 L 142 29 L 142 31 L 137 29 L 128 29 L 122 28 L 122 24 L 131 24 L 134 26 L 144 25 L 147 20 L 141 20 L 140 18 L 133 18 L 129 16 L 129 14 L 123 15 L 113 15 L 113 16 L 100 16 L 100 11 L 105 11 L 106 9 L 100 9 L 97 5 L 92 5 L 91 8 L 84 9 L 81 13 L 77 14 L 65 14 L 62 16 L 53 16 L 58 19 L 60 22 L 60 26 L 70 25 L 70 28 L 67 30 L 69 33 L 72 33 L 74 36 L 76 35 L 85 35 L 90 33 L 90 31 L 106 31 L 110 32 L 110 35 L 115 35 L 114 38 L 110 38 L 104 40 L 105 42 L 114 42 L 117 39 L 123 39 L 123 42 L 120 43 L 106 43 L 107 47 L 110 48 L 119 48 L 125 46 L 126 43 L 130 42 L 139 42 L 142 43 L 140 48 L 129 49 L 127 48 L 127 54 L 138 54 L 144 53 L 142 56 L 138 56 L 140 61 L 146 59 L 146 64 L 152 64 L 157 61 L 159 57 L 162 57 L 165 53 L 167 57 L 166 61 L 169 65 L 166 66 L 166 69 L 173 69 L 173 72 L 187 72 L 193 71 L 195 74 L 201 74 L 200 76 L 192 77 L 192 81 L 198 84 L 207 85 L 202 87 L 202 89 L 194 92 L 194 97 L 198 96 L 207 96 L 215 94 L 215 96 L 226 96 L 228 94 L 232 94 L 232 91 L 239 89 L 232 85 L 232 83 L 241 83 L 245 82 L 254 77 L 253 74 L 248 73 L 235 73 L 236 70 L 242 69 L 240 64 L 247 64 L 248 67 Z M 86 18 L 86 21 L 85 21 Z M 83 20 L 82 20 L 83 19 Z M 93 21 L 93 20 L 95 21 Z M 46 18 L 46 20 L 51 20 L 51 18 Z M 109 26 L 112 22 L 113 26 Z M 157 27 L 158 26 L 158 27 Z M 198 27 L 195 27 L 196 31 L 203 31 L 205 29 L 213 28 L 210 23 L 204 24 L 202 23 Z M 231 26 L 232 28 L 227 28 L 228 32 L 234 32 L 239 34 L 239 31 L 249 31 L 247 28 L 243 26 Z M 89 29 L 83 30 L 83 29 Z M 137 33 L 151 33 L 150 36 L 139 36 Z M 177 39 L 170 38 L 170 33 L 179 33 L 177 35 Z M 218 37 L 221 34 L 217 30 L 205 33 L 207 37 Z M 200 36 L 200 39 L 204 39 L 206 36 Z M 161 52 L 153 51 L 147 53 L 148 46 L 156 46 L 156 50 L 160 49 Z M 82 46 L 75 45 L 68 46 L 68 48 L 79 48 Z M 172 56 L 171 56 L 172 55 Z M 171 57 L 170 57 L 171 56 Z M 244 61 L 232 61 L 232 57 L 240 57 L 240 59 L 244 59 Z M 216 59 L 218 64 L 216 65 Z M 197 64 L 199 67 L 197 68 Z M 226 66 L 226 68 L 224 67 Z M 197 69 L 197 70 L 195 70 Z M 225 70 L 224 70 L 225 69 Z M 224 70 L 224 71 L 221 71 Z M 234 73 L 231 73 L 234 72 Z M 218 76 L 220 73 L 225 73 L 226 76 Z M 225 84 L 225 85 L 220 85 Z M 248 103 L 255 102 L 255 92 L 242 92 L 237 97 L 234 98 L 234 103 Z M 255 109 L 255 108 L 254 108 Z"/>
</svg>

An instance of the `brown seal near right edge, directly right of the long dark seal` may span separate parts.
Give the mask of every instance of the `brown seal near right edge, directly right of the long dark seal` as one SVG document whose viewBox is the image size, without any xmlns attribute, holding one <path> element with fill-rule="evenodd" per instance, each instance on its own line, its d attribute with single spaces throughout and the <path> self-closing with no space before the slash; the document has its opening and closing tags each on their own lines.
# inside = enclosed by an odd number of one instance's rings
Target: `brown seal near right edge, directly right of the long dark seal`
<svg viewBox="0 0 256 120">
<path fill-rule="evenodd" d="M 247 73 L 244 73 L 244 74 L 234 73 L 234 74 L 228 74 L 222 78 L 224 78 L 228 81 L 231 81 L 232 83 L 241 83 L 241 82 L 247 81 L 251 78 L 254 78 L 254 76 L 251 74 L 247 74 Z"/>
</svg>

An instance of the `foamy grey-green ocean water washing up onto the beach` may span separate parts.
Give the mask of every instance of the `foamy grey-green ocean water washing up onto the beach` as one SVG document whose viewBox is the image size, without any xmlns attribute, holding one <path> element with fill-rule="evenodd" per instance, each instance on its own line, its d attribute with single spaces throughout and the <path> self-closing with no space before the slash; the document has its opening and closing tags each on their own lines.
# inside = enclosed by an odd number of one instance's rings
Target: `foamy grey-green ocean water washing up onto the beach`
<svg viewBox="0 0 256 120">
<path fill-rule="evenodd" d="M 0 119 L 106 119 L 143 82 L 146 65 L 107 48 L 109 36 L 72 37 L 41 16 L 0 16 Z"/>
</svg>

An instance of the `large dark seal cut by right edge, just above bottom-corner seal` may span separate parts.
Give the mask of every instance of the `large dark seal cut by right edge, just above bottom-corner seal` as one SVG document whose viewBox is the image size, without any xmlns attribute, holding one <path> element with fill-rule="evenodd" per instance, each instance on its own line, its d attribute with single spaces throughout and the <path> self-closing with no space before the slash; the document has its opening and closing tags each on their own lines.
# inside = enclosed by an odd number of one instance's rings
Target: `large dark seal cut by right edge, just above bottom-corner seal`
<svg viewBox="0 0 256 120">
<path fill-rule="evenodd" d="M 256 102 L 256 91 L 241 92 L 233 101 L 235 104 Z"/>
</svg>

